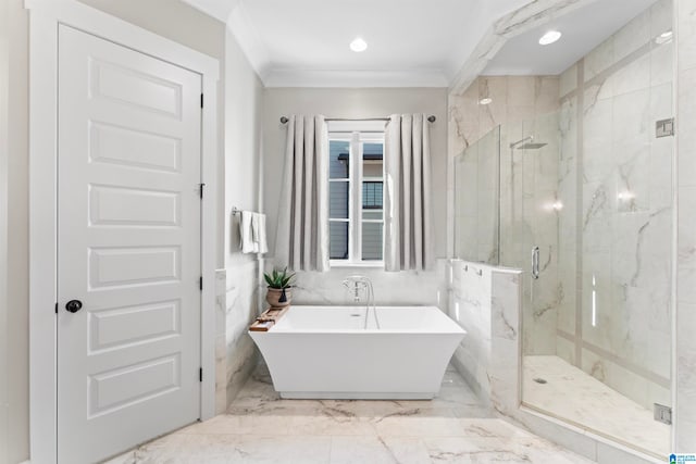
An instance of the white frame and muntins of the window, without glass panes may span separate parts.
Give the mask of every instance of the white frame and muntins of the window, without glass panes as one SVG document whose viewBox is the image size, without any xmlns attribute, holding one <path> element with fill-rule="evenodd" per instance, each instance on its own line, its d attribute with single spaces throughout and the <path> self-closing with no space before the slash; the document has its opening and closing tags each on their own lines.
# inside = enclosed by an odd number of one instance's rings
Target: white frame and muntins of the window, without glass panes
<svg viewBox="0 0 696 464">
<path fill-rule="evenodd" d="M 348 183 L 348 218 L 332 218 L 328 217 L 328 223 L 348 223 L 348 258 L 347 259 L 331 259 L 331 267 L 384 267 L 384 208 L 363 210 L 362 205 L 362 189 L 363 181 L 382 181 L 383 184 L 383 205 L 384 205 L 384 123 L 380 122 L 378 126 L 372 124 L 372 127 L 365 127 L 365 124 L 352 124 L 352 127 L 343 125 L 344 127 L 328 128 L 328 141 L 348 141 L 348 178 L 347 179 L 331 179 L 334 183 Z M 375 128 L 376 127 L 376 128 Z M 341 130 L 343 128 L 343 130 Z M 363 160 L 364 160 L 364 145 L 365 143 L 381 143 L 383 147 L 382 155 L 382 177 L 365 177 L 363 175 Z M 360 160 L 361 162 L 353 162 L 353 160 Z M 331 188 L 328 189 L 331 192 Z M 382 211 L 381 220 L 365 220 L 363 218 L 363 211 L 377 212 Z M 383 224 L 382 228 L 382 259 L 381 260 L 363 260 L 362 259 L 362 226 L 365 223 Z"/>
</svg>

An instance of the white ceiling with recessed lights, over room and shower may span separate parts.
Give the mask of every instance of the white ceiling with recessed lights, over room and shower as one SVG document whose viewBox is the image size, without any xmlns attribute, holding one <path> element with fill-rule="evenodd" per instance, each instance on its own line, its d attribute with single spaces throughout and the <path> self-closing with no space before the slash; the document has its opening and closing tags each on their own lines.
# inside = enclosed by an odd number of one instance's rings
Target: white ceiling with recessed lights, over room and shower
<svg viewBox="0 0 696 464">
<path fill-rule="evenodd" d="M 269 87 L 446 87 L 499 17 L 532 0 L 184 0 L 226 22 Z M 655 0 L 598 0 L 512 38 L 486 74 L 559 74 Z M 543 30 L 561 41 L 539 49 Z M 357 36 L 369 45 L 355 53 Z"/>
</svg>

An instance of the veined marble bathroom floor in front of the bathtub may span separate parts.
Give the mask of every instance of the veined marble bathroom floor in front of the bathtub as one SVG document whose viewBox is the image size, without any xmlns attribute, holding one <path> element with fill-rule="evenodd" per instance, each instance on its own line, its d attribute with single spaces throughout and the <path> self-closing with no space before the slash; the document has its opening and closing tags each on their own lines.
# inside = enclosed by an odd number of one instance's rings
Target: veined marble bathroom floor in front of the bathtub
<svg viewBox="0 0 696 464">
<path fill-rule="evenodd" d="M 588 463 L 495 418 L 456 371 L 432 401 L 283 400 L 259 366 L 225 414 L 109 464 Z"/>
</svg>

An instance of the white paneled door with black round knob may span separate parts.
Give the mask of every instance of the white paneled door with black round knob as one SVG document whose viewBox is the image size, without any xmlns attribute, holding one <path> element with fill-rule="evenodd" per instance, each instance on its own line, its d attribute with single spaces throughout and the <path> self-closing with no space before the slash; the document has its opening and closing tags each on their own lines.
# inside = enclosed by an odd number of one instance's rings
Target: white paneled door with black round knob
<svg viewBox="0 0 696 464">
<path fill-rule="evenodd" d="M 201 76 L 61 26 L 58 85 L 58 461 L 79 464 L 200 416 Z"/>
</svg>

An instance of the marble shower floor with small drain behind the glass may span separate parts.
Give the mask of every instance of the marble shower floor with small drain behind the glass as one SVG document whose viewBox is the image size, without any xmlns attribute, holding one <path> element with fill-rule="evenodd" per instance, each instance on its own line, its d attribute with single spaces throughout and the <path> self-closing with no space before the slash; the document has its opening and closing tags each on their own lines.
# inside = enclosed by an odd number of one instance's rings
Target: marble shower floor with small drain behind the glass
<svg viewBox="0 0 696 464">
<path fill-rule="evenodd" d="M 525 406 L 651 456 L 669 455 L 670 426 L 652 411 L 559 356 L 527 355 L 523 368 Z"/>
</svg>

